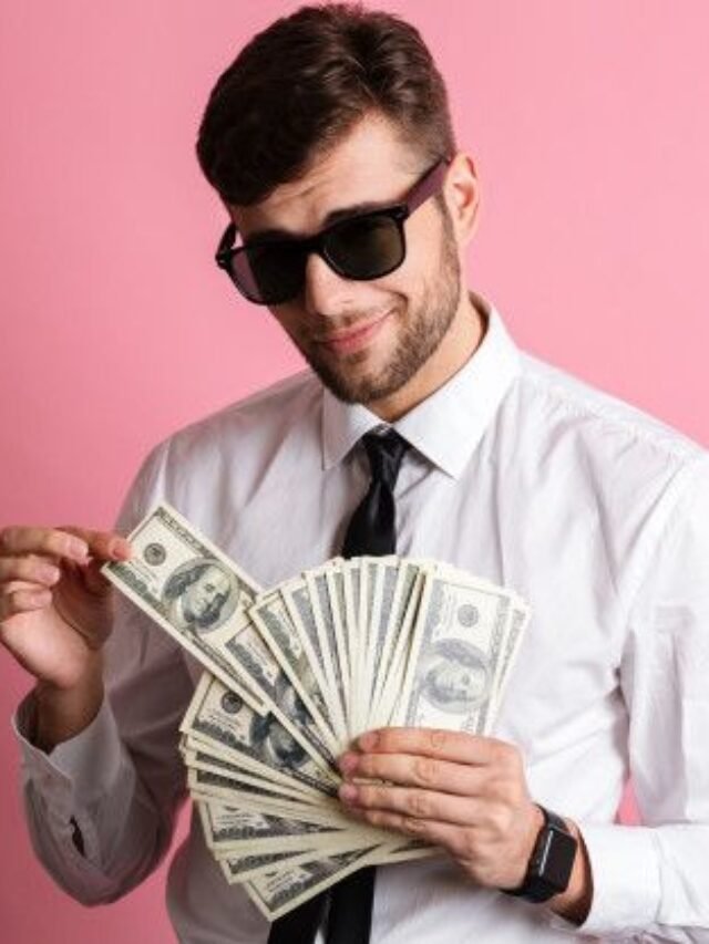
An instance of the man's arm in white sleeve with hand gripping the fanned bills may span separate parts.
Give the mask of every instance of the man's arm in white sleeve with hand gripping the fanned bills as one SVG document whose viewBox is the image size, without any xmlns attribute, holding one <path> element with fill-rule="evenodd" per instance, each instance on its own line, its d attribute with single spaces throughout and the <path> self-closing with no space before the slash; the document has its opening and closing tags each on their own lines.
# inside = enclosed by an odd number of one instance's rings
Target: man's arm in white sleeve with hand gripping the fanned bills
<svg viewBox="0 0 709 944">
<path fill-rule="evenodd" d="M 680 488 L 681 486 L 681 488 Z M 679 498 L 676 496 L 679 495 Z M 709 941 L 709 471 L 677 483 L 648 541 L 620 684 L 646 826 L 568 824 L 582 838 L 567 891 L 545 905 L 604 940 Z M 453 732 L 389 728 L 341 761 L 348 809 L 444 848 L 477 884 L 514 888 L 538 819 L 516 749 Z M 559 926 L 572 930 L 569 924 Z"/>
</svg>

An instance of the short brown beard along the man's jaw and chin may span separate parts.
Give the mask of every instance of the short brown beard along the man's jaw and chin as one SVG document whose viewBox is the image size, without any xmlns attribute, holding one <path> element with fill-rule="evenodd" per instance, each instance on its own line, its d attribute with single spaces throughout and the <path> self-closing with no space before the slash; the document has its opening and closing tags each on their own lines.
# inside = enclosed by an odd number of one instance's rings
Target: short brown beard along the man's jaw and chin
<svg viewBox="0 0 709 944">
<path fill-rule="evenodd" d="M 445 206 L 441 207 L 441 216 L 443 235 L 438 277 L 425 286 L 421 299 L 409 310 L 397 349 L 383 370 L 377 375 L 357 376 L 348 365 L 356 366 L 367 357 L 367 352 L 352 355 L 338 367 L 318 345 L 294 339 L 312 371 L 338 400 L 368 404 L 397 393 L 435 353 L 448 333 L 460 304 L 461 267 L 453 224 Z"/>
</svg>

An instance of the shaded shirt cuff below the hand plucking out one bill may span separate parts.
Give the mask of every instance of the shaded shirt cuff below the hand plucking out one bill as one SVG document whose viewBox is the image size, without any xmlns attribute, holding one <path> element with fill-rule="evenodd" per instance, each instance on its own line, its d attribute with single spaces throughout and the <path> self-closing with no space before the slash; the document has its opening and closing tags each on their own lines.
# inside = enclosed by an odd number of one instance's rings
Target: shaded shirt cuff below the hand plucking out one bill
<svg viewBox="0 0 709 944">
<path fill-rule="evenodd" d="M 34 714 L 34 696 L 30 694 L 12 719 L 24 778 L 41 795 L 51 796 L 58 812 L 61 807 L 66 815 L 72 808 L 95 803 L 110 793 L 120 776 L 123 747 L 107 699 L 103 699 L 99 714 L 84 730 L 49 753 L 30 740 Z"/>
</svg>

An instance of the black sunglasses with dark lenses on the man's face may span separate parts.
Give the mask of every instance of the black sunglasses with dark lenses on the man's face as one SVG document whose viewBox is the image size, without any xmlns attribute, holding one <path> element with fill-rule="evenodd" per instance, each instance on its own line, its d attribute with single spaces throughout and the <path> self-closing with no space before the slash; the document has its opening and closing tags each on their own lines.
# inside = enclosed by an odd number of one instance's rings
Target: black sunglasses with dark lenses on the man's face
<svg viewBox="0 0 709 944">
<path fill-rule="evenodd" d="M 302 292 L 306 267 L 317 252 L 343 279 L 381 279 L 407 257 L 404 221 L 443 186 L 449 165 L 441 158 L 398 204 L 347 217 L 307 238 L 254 239 L 234 248 L 232 222 L 219 240 L 216 263 L 256 304 L 282 304 Z"/>
</svg>

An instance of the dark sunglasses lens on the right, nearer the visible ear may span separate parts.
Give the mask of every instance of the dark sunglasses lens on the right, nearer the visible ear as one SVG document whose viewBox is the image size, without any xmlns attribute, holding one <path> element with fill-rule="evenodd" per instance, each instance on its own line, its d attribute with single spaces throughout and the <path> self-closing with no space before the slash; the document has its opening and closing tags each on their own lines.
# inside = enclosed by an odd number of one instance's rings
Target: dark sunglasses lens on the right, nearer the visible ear
<svg viewBox="0 0 709 944">
<path fill-rule="evenodd" d="M 377 279 L 403 262 L 402 230 L 390 216 L 346 220 L 325 238 L 328 259 L 348 279 Z"/>
</svg>

